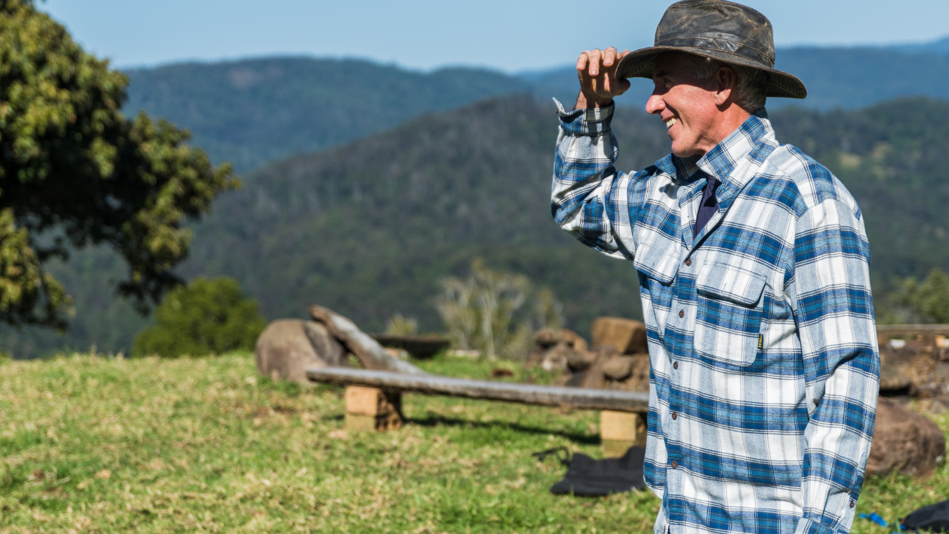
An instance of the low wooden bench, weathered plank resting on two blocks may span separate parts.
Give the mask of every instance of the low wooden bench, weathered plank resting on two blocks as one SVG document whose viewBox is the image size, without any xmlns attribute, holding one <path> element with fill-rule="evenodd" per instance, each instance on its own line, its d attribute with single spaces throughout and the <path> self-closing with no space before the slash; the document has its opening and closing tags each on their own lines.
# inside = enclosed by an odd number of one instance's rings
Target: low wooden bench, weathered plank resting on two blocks
<svg viewBox="0 0 949 534">
<path fill-rule="evenodd" d="M 590 390 L 468 380 L 437 375 L 367 371 L 348 368 L 307 370 L 313 382 L 346 386 L 346 428 L 391 430 L 401 426 L 403 391 L 539 406 L 601 410 L 600 438 L 604 455 L 622 456 L 645 443 L 649 393 Z"/>
</svg>

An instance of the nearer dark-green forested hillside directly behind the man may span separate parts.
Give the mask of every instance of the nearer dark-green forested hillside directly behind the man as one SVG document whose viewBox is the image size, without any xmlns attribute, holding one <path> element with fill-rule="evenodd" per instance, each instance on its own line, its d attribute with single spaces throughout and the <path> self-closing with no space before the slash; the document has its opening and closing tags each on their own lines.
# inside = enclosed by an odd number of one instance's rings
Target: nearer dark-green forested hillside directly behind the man
<svg viewBox="0 0 949 534">
<path fill-rule="evenodd" d="M 949 261 L 949 104 L 908 99 L 853 111 L 772 113 L 778 139 L 826 163 L 860 202 L 877 295 L 893 277 L 924 275 Z M 237 277 L 269 318 L 302 316 L 320 302 L 366 330 L 389 315 L 437 330 L 439 277 L 473 257 L 533 277 L 566 304 L 568 327 L 596 315 L 640 315 L 636 274 L 569 238 L 549 215 L 556 135 L 553 106 L 508 96 L 423 116 L 323 152 L 270 164 L 195 226 L 182 273 Z M 618 113 L 623 169 L 668 150 L 664 129 L 634 109 Z M 93 255 L 94 256 L 94 255 Z M 143 323 L 106 291 L 108 257 L 55 271 L 77 297 L 65 342 L 128 347 Z M 91 257 L 91 259 L 90 259 Z M 78 293 L 77 293 L 78 292 Z M 10 333 L 7 347 L 61 343 L 51 333 Z"/>
</svg>

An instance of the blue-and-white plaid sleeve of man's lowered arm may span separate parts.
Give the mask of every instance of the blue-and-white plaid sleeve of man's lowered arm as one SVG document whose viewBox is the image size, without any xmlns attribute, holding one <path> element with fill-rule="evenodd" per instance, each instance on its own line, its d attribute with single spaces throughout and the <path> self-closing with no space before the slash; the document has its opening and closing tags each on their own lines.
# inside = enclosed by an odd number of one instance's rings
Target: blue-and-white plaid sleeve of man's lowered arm
<svg viewBox="0 0 949 534">
<path fill-rule="evenodd" d="M 869 243 L 856 205 L 829 199 L 798 220 L 787 295 L 798 324 L 809 422 L 796 532 L 847 531 L 863 486 L 879 391 Z"/>
</svg>

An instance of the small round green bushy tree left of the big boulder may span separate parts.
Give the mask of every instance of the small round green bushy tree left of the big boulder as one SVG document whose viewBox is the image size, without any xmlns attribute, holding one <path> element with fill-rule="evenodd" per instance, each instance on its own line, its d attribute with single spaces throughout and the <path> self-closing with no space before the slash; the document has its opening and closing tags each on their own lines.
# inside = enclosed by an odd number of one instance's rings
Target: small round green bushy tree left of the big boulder
<svg viewBox="0 0 949 534">
<path fill-rule="evenodd" d="M 257 301 L 231 277 L 195 278 L 177 287 L 155 310 L 156 326 L 135 340 L 138 355 L 202 355 L 250 350 L 267 326 Z"/>
</svg>

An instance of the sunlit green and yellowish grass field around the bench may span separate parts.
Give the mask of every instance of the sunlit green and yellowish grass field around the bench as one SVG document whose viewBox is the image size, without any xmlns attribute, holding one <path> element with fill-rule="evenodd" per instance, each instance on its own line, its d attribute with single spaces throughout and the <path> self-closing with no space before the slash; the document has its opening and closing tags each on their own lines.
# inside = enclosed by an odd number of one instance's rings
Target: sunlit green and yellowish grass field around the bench
<svg viewBox="0 0 949 534">
<path fill-rule="evenodd" d="M 422 365 L 484 378 L 497 364 Z M 347 433 L 342 389 L 274 383 L 249 354 L 6 360 L 0 532 L 651 531 L 651 494 L 553 496 L 564 467 L 530 455 L 598 456 L 596 412 L 422 395 L 403 407 L 399 431 Z M 945 498 L 943 467 L 924 483 L 868 480 L 857 510 L 892 520 Z"/>
</svg>

